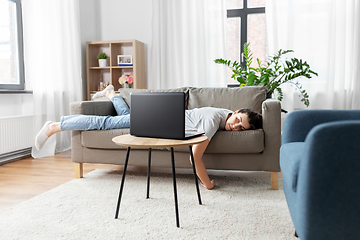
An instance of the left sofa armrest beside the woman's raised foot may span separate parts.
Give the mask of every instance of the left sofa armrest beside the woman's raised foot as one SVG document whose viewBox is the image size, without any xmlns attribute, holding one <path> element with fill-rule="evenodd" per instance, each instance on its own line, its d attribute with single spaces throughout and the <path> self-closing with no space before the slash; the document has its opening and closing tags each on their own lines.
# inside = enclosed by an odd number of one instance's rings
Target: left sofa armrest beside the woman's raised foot
<svg viewBox="0 0 360 240">
<path fill-rule="evenodd" d="M 110 101 L 82 101 L 70 103 L 70 114 L 116 116 L 116 111 Z"/>
</svg>

